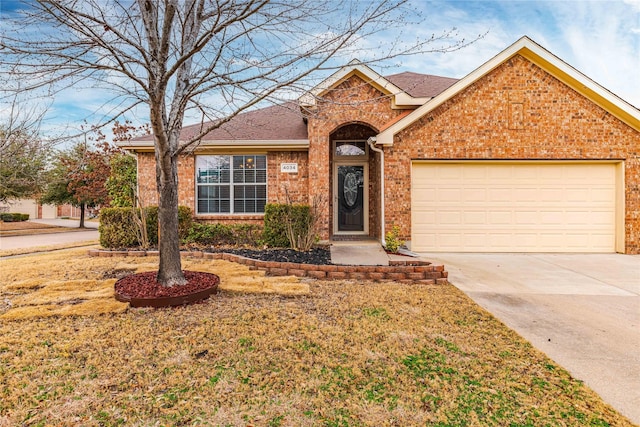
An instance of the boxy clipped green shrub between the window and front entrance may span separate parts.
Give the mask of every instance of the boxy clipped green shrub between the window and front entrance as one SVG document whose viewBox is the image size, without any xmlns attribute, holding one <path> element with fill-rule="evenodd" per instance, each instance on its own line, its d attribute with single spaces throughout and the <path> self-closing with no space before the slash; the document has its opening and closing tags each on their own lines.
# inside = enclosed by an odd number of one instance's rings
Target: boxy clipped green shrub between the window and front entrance
<svg viewBox="0 0 640 427">
<path fill-rule="evenodd" d="M 268 203 L 264 208 L 262 234 L 265 245 L 275 248 L 291 246 L 287 237 L 287 218 L 292 221 L 296 235 L 304 233 L 311 221 L 311 208 L 309 205 Z"/>
</svg>

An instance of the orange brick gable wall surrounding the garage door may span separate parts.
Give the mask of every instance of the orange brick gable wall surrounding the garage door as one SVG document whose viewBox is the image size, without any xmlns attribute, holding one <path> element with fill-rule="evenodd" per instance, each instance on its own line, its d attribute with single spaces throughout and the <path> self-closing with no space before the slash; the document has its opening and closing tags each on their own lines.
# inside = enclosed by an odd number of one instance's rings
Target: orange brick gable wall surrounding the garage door
<svg viewBox="0 0 640 427">
<path fill-rule="evenodd" d="M 626 253 L 640 253 L 640 133 L 516 56 L 385 149 L 386 224 L 411 234 L 412 159 L 615 160 L 625 165 Z"/>
</svg>

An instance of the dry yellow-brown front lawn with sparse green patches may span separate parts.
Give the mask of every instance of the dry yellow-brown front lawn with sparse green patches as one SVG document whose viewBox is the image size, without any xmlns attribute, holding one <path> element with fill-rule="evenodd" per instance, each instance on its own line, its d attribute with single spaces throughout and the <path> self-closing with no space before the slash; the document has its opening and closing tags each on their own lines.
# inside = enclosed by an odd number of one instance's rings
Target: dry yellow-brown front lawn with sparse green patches
<svg viewBox="0 0 640 427">
<path fill-rule="evenodd" d="M 0 304 L 152 263 L 70 254 L 0 261 Z M 453 286 L 256 280 L 306 291 L 0 320 L 0 426 L 632 425 Z"/>
</svg>

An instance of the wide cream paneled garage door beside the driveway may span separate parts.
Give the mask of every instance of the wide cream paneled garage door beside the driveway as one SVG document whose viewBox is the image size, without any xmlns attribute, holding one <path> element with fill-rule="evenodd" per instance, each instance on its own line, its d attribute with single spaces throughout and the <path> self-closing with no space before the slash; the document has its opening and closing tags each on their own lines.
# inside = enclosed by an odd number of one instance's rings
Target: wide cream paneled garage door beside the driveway
<svg viewBox="0 0 640 427">
<path fill-rule="evenodd" d="M 413 163 L 418 252 L 615 252 L 616 165 Z"/>
</svg>

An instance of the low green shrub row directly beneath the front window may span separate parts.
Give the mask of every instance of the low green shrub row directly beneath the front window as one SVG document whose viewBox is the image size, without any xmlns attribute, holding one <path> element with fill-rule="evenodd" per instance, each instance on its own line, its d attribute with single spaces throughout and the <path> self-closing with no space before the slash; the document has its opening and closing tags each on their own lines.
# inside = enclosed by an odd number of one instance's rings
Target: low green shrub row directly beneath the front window
<svg viewBox="0 0 640 427">
<path fill-rule="evenodd" d="M 258 246 L 261 229 L 255 224 L 191 225 L 185 242 L 201 246 Z"/>
</svg>

